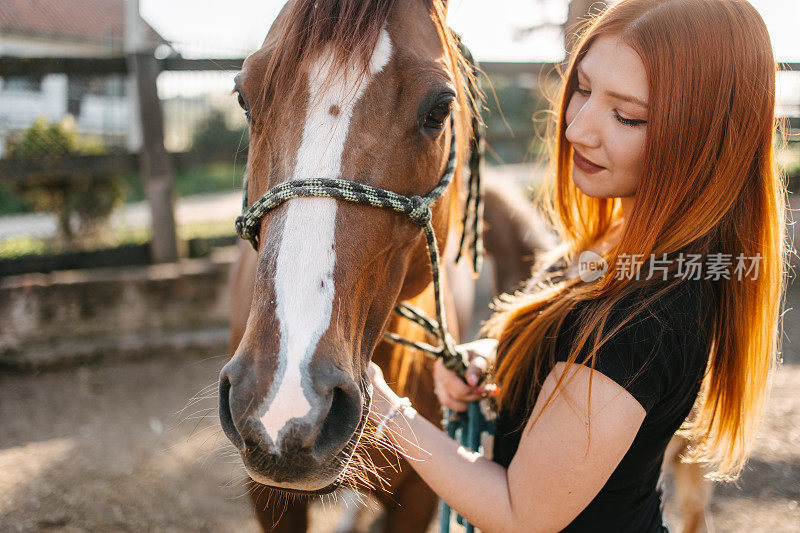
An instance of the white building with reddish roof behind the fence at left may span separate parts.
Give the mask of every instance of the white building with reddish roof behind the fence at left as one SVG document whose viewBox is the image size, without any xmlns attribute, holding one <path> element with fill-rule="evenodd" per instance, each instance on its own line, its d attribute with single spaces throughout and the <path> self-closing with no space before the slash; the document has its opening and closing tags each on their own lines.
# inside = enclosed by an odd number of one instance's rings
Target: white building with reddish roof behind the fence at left
<svg viewBox="0 0 800 533">
<path fill-rule="evenodd" d="M 120 57 L 124 55 L 125 0 L 0 0 L 0 56 Z M 144 22 L 152 48 L 169 46 Z M 0 156 L 14 135 L 38 117 L 71 114 L 81 133 L 125 145 L 131 99 L 124 75 L 48 74 L 0 78 Z"/>
</svg>

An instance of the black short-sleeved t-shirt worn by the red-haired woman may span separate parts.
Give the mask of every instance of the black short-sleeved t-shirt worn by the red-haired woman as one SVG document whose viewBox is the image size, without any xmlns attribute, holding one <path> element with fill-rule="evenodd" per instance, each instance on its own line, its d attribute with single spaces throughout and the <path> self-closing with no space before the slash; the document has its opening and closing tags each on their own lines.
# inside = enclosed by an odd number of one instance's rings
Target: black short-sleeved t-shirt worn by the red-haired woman
<svg viewBox="0 0 800 533">
<path fill-rule="evenodd" d="M 598 349 L 595 370 L 625 388 L 646 416 L 631 447 L 589 505 L 562 531 L 662 532 L 661 490 L 657 487 L 664 450 L 697 397 L 708 361 L 710 293 L 702 280 L 683 280 L 637 314 Z M 603 331 L 611 331 L 654 289 L 639 289 L 614 306 Z M 556 338 L 556 360 L 566 361 L 575 316 L 565 317 Z M 601 335 L 602 337 L 602 335 Z M 578 355 L 589 353 L 593 334 Z M 588 365 L 588 362 L 587 362 Z M 508 467 L 516 453 L 527 409 L 501 412 L 493 460 Z"/>
</svg>

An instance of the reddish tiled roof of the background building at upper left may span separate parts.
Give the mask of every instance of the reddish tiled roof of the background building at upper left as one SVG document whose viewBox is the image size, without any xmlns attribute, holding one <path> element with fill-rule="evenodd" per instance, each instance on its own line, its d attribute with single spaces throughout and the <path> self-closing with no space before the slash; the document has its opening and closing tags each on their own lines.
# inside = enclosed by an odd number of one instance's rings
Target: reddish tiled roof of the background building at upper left
<svg viewBox="0 0 800 533">
<path fill-rule="evenodd" d="M 166 44 L 149 24 L 151 44 Z M 0 0 L 0 30 L 122 48 L 125 0 Z"/>
</svg>

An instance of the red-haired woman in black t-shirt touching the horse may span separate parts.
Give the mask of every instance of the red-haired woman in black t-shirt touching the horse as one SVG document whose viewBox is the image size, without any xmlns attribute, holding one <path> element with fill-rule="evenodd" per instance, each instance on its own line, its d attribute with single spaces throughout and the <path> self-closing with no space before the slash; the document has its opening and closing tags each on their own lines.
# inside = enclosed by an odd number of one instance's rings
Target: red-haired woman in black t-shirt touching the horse
<svg viewBox="0 0 800 533">
<path fill-rule="evenodd" d="M 435 375 L 463 410 L 496 367 L 493 459 L 416 416 L 374 365 L 371 416 L 483 531 L 667 531 L 656 481 L 671 436 L 683 425 L 695 459 L 735 479 L 776 360 L 776 65 L 744 0 L 622 0 L 571 57 L 543 197 L 564 245 L 470 346 L 471 386 Z"/>
</svg>

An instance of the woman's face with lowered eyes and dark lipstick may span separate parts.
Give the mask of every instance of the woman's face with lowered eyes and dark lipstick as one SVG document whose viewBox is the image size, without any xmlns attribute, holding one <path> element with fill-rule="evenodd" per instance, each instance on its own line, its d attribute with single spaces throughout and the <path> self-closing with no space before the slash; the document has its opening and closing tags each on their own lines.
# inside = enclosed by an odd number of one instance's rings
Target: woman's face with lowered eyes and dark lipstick
<svg viewBox="0 0 800 533">
<path fill-rule="evenodd" d="M 628 45 L 603 36 L 577 68 L 578 87 L 566 113 L 572 179 L 587 196 L 622 197 L 625 210 L 642 173 L 648 98 L 644 65 Z M 586 168 L 580 156 L 597 166 Z"/>
</svg>

